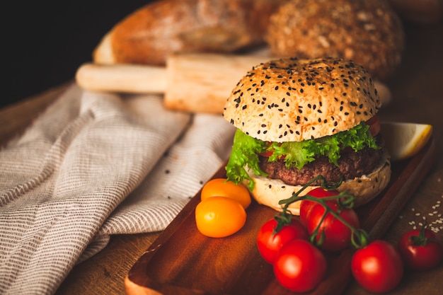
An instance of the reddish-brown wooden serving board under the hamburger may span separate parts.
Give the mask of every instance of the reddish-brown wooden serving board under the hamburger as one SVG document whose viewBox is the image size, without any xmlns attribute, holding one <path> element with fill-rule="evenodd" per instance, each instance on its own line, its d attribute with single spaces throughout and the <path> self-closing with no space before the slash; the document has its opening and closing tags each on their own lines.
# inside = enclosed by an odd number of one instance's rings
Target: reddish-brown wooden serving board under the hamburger
<svg viewBox="0 0 443 295">
<path fill-rule="evenodd" d="M 371 238 L 381 238 L 431 168 L 436 155 L 433 138 L 415 156 L 392 163 L 391 182 L 376 199 L 357 209 L 360 224 Z M 214 178 L 225 176 L 224 166 Z M 226 238 L 208 238 L 195 226 L 200 192 L 135 262 L 125 279 L 132 294 L 293 294 L 275 280 L 272 266 L 260 257 L 256 237 L 276 214 L 253 202 L 243 229 Z M 340 294 L 352 279 L 352 249 L 327 254 L 328 271 L 311 293 Z"/>
</svg>

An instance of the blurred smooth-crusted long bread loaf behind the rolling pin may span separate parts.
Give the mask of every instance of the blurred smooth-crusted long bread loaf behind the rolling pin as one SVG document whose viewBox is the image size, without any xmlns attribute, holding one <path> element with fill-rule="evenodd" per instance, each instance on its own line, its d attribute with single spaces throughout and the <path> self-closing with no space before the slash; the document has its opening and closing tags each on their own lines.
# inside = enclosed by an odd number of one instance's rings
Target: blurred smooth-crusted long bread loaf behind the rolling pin
<svg viewBox="0 0 443 295">
<path fill-rule="evenodd" d="M 159 0 L 117 23 L 93 52 L 98 64 L 163 66 L 173 52 L 235 52 L 263 43 L 287 0 Z"/>
</svg>

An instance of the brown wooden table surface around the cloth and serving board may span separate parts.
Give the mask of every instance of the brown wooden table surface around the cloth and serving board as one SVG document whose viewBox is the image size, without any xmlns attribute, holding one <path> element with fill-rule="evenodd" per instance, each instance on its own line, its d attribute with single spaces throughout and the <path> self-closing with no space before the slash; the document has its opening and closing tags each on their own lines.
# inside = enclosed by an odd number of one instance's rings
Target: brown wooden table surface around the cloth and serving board
<svg viewBox="0 0 443 295">
<path fill-rule="evenodd" d="M 443 25 L 406 25 L 405 32 L 403 62 L 387 82 L 393 100 L 381 109 L 379 117 L 433 125 L 437 159 L 385 236 L 392 243 L 425 216 L 443 238 L 442 215 L 438 216 L 443 204 L 437 206 L 443 203 Z M 57 86 L 1 109 L 0 146 L 20 135 L 66 87 Z M 57 294 L 124 294 L 128 270 L 157 236 L 159 233 L 111 237 L 104 250 L 74 267 Z M 401 285 L 389 294 L 440 294 L 442 290 L 443 264 L 427 272 L 406 272 Z M 352 283 L 345 294 L 369 293 Z"/>
</svg>

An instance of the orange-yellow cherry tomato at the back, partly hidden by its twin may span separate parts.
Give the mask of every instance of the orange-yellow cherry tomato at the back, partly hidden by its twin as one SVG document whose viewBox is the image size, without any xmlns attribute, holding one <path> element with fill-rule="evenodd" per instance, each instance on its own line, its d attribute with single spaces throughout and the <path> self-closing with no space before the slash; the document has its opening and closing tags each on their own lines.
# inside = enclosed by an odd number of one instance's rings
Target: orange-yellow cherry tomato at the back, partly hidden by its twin
<svg viewBox="0 0 443 295">
<path fill-rule="evenodd" d="M 229 197 L 240 202 L 244 209 L 251 204 L 249 190 L 241 183 L 236 185 L 226 178 L 214 178 L 205 183 L 202 188 L 202 200 L 208 197 Z"/>
</svg>

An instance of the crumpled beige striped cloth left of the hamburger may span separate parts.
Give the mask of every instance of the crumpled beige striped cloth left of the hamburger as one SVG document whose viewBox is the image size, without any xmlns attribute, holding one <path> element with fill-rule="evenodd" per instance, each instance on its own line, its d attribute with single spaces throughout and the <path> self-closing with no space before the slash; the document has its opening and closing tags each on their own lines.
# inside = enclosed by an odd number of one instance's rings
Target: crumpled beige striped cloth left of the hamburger
<svg viewBox="0 0 443 295">
<path fill-rule="evenodd" d="M 0 151 L 0 294 L 53 294 L 116 233 L 164 229 L 229 156 L 220 115 L 72 85 Z"/>
</svg>

